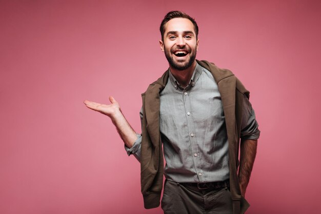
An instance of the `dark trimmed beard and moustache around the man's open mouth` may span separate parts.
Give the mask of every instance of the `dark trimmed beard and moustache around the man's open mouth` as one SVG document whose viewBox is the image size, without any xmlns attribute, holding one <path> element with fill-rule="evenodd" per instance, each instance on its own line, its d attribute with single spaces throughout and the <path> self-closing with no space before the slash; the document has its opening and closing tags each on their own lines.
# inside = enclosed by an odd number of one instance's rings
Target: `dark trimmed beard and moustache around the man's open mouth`
<svg viewBox="0 0 321 214">
<path fill-rule="evenodd" d="M 176 70 L 182 71 L 182 70 L 185 70 L 185 69 L 191 67 L 193 62 L 196 59 L 196 47 L 194 48 L 194 50 L 192 50 L 191 48 L 186 46 L 186 48 L 184 48 L 184 50 L 186 50 L 190 54 L 188 59 L 183 62 L 179 62 L 179 61 L 176 62 L 176 61 L 174 61 L 174 56 L 173 56 L 175 48 L 172 48 L 171 50 L 167 50 L 165 48 L 166 59 L 167 59 L 168 63 L 170 64 L 170 66 Z"/>
</svg>

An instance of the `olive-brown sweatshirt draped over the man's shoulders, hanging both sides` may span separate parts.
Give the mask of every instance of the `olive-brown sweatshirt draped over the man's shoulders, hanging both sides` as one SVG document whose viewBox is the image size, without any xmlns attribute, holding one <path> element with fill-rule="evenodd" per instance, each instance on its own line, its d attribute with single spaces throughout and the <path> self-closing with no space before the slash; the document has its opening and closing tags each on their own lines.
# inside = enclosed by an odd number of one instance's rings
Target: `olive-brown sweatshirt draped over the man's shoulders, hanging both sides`
<svg viewBox="0 0 321 214">
<path fill-rule="evenodd" d="M 233 213 L 244 213 L 249 204 L 241 195 L 237 168 L 243 97 L 244 94 L 249 97 L 249 91 L 231 71 L 220 69 L 207 61 L 197 61 L 197 63 L 211 71 L 222 98 L 229 142 L 230 190 L 233 200 Z M 168 76 L 169 70 L 157 81 L 150 84 L 146 92 L 142 94 L 141 187 L 146 209 L 159 206 L 163 188 L 164 160 L 159 132 L 159 92 L 165 88 Z"/>
</svg>

